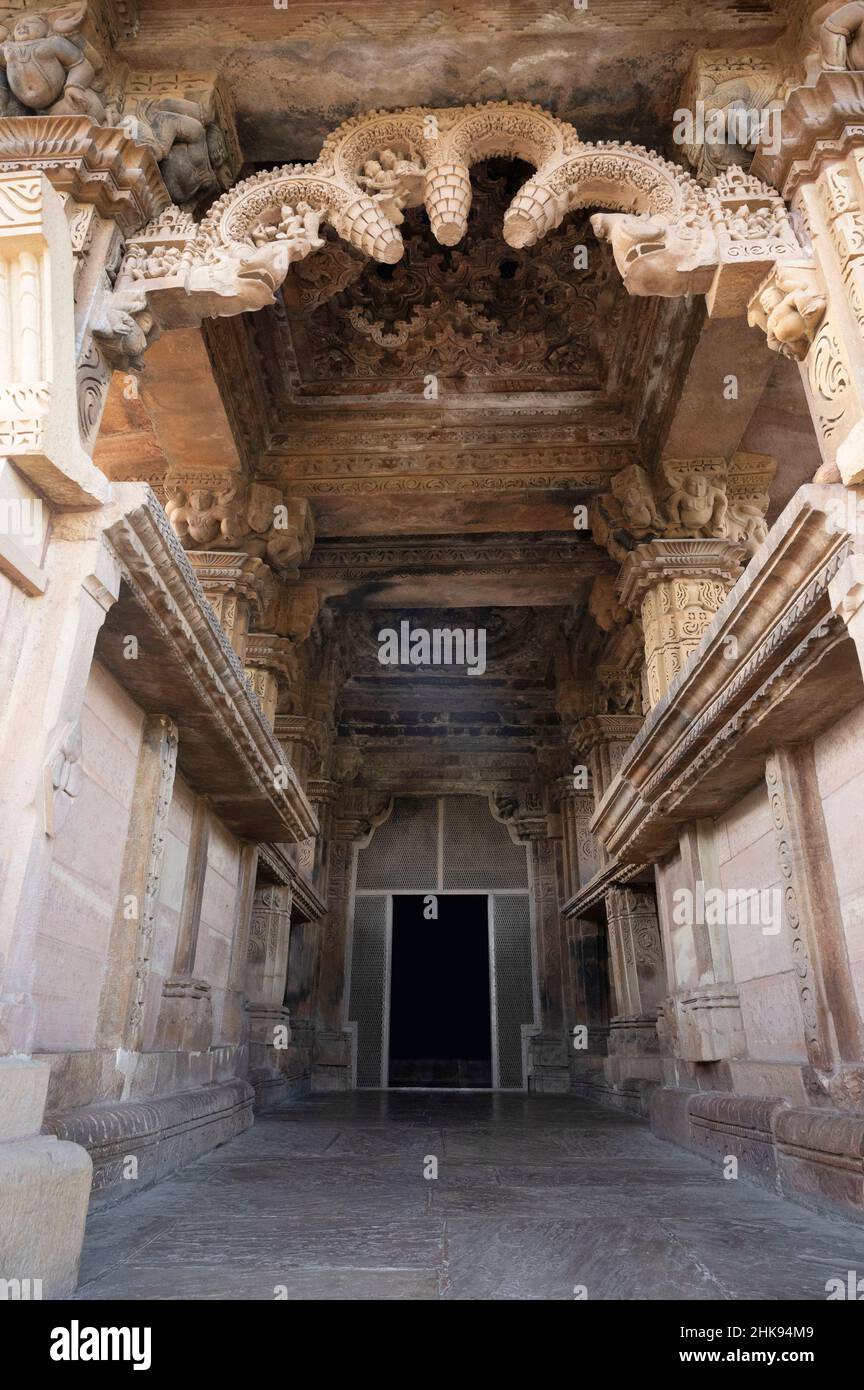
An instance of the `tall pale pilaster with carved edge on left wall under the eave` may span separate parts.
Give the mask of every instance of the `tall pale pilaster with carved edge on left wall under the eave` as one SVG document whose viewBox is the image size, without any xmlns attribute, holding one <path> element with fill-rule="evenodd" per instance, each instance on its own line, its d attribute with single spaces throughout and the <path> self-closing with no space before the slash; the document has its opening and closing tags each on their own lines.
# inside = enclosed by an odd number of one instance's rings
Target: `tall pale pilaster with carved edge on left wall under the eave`
<svg viewBox="0 0 864 1390">
<path fill-rule="evenodd" d="M 142 1045 L 165 826 L 176 771 L 176 738 L 172 720 L 161 714 L 150 714 L 144 720 L 108 966 L 99 1004 L 97 1044 L 104 1048 L 122 1047 L 136 1052 Z"/>
</svg>

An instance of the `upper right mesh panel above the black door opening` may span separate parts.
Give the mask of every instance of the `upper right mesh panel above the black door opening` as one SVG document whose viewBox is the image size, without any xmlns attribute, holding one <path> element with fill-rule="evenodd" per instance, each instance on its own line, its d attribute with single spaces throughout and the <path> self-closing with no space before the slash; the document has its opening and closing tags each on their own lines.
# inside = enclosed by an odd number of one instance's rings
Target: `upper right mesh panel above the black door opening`
<svg viewBox="0 0 864 1390">
<path fill-rule="evenodd" d="M 445 799 L 445 888 L 526 888 L 528 853 L 482 796 Z"/>
</svg>

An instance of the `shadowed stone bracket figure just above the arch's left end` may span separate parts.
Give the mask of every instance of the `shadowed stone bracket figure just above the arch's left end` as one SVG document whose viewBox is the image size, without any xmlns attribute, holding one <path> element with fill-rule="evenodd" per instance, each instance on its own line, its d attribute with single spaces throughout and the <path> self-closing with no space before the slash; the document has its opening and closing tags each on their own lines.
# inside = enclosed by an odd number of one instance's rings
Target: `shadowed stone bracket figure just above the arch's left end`
<svg viewBox="0 0 864 1390">
<path fill-rule="evenodd" d="M 228 182 L 228 152 L 219 128 L 207 122 L 199 101 L 156 97 L 142 101 L 122 128 L 153 150 L 175 203 L 190 203 Z"/>
</svg>

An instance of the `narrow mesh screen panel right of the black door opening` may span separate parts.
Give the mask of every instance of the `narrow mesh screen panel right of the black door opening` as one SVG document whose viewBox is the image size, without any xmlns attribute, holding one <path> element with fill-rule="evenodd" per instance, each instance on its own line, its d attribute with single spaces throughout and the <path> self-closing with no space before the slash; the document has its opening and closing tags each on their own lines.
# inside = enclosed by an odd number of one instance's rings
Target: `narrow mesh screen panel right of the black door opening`
<svg viewBox="0 0 864 1390">
<path fill-rule="evenodd" d="M 533 1023 L 531 908 L 525 897 L 492 898 L 499 1084 L 522 1090 L 522 1023 Z"/>
</svg>

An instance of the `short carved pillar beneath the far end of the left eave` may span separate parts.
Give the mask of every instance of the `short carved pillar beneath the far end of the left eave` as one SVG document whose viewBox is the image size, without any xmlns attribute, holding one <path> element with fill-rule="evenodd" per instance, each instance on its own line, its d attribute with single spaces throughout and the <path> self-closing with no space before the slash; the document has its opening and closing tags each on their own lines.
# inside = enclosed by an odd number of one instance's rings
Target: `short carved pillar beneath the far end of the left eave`
<svg viewBox="0 0 864 1390">
<path fill-rule="evenodd" d="M 283 1063 L 290 1042 L 285 1008 L 290 944 L 292 890 L 283 884 L 258 887 L 251 910 L 246 962 L 246 995 L 250 1016 L 250 1081 L 258 1105 L 286 1094 Z"/>
</svg>

